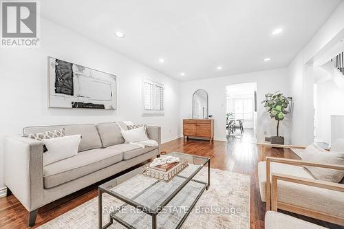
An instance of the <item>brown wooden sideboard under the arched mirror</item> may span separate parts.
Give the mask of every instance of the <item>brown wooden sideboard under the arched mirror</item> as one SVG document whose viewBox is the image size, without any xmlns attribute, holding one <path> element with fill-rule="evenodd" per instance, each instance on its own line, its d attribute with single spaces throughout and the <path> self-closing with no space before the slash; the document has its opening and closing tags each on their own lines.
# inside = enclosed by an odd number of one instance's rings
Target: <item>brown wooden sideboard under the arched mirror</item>
<svg viewBox="0 0 344 229">
<path fill-rule="evenodd" d="M 214 120 L 213 119 L 184 119 L 184 138 L 199 137 L 214 140 Z"/>
</svg>

